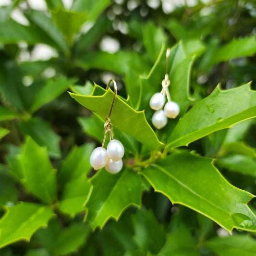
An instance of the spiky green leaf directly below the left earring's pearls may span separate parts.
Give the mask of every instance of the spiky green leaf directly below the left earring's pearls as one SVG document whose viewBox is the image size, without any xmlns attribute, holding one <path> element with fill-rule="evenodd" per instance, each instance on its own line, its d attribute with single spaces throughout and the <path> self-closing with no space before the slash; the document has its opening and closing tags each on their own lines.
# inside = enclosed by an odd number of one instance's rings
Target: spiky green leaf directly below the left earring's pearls
<svg viewBox="0 0 256 256">
<path fill-rule="evenodd" d="M 118 219 L 128 206 L 141 204 L 142 180 L 131 170 L 123 168 L 113 175 L 103 169 L 93 176 L 91 183 L 85 219 L 93 229 L 102 228 L 111 217 Z"/>
</svg>

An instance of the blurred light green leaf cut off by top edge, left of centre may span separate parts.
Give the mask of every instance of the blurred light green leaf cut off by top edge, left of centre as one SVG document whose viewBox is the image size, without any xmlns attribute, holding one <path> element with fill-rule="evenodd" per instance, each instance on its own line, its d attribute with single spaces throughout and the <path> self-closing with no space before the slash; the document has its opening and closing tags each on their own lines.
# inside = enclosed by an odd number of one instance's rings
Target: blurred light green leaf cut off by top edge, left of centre
<svg viewBox="0 0 256 256">
<path fill-rule="evenodd" d="M 76 0 L 71 7 L 73 12 L 87 12 L 89 20 L 96 20 L 98 15 L 110 5 L 110 0 Z"/>
</svg>

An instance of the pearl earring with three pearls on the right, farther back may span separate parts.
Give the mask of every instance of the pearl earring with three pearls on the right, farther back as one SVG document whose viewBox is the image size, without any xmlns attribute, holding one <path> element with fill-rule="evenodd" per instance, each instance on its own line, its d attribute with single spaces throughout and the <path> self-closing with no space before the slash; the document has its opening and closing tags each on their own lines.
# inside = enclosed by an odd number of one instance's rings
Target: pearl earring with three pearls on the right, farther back
<svg viewBox="0 0 256 256">
<path fill-rule="evenodd" d="M 169 56 L 170 49 L 168 48 L 166 51 L 166 72 L 164 80 L 162 81 L 162 90 L 161 92 L 155 93 L 149 101 L 150 108 L 153 110 L 158 110 L 153 114 L 152 117 L 152 123 L 157 129 L 161 129 L 167 124 L 167 117 L 176 118 L 180 113 L 179 105 L 176 102 L 171 101 L 170 93 L 168 90 L 168 86 L 170 85 L 169 76 L 167 74 Z M 164 106 L 165 95 L 168 102 Z M 164 110 L 162 110 L 163 106 Z"/>
</svg>

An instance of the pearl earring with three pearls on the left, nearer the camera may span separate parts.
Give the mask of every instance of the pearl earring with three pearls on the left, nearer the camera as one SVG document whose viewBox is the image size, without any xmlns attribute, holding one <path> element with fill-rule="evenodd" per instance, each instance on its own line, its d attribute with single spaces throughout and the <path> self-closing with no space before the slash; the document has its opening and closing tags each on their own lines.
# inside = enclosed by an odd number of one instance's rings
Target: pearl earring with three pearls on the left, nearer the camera
<svg viewBox="0 0 256 256">
<path fill-rule="evenodd" d="M 122 143 L 119 140 L 114 139 L 114 136 L 112 133 L 113 126 L 110 122 L 110 115 L 111 115 L 111 111 L 113 109 L 114 101 L 117 95 L 117 86 L 116 86 L 115 80 L 110 79 L 107 85 L 107 90 L 111 82 L 113 82 L 114 84 L 115 91 L 114 91 L 114 98 L 110 107 L 109 117 L 107 118 L 104 124 L 105 134 L 104 134 L 103 142 L 101 146 L 96 147 L 93 150 L 90 156 L 90 164 L 95 170 L 105 167 L 105 169 L 108 172 L 117 173 L 122 169 L 122 157 L 124 155 L 124 148 L 122 146 Z M 104 144 L 105 144 L 107 133 L 109 133 L 110 135 L 110 142 L 107 146 L 107 149 L 105 149 Z"/>
</svg>

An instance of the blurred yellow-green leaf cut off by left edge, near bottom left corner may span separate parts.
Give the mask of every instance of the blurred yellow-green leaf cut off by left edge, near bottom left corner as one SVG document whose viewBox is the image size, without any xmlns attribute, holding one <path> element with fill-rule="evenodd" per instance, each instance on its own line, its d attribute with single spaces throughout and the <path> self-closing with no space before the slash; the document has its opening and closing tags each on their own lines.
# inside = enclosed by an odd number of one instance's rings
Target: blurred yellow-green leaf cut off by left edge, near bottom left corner
<svg viewBox="0 0 256 256">
<path fill-rule="evenodd" d="M 53 215 L 49 207 L 33 203 L 6 207 L 5 215 L 0 219 L 0 248 L 20 240 L 29 241 Z"/>
</svg>

